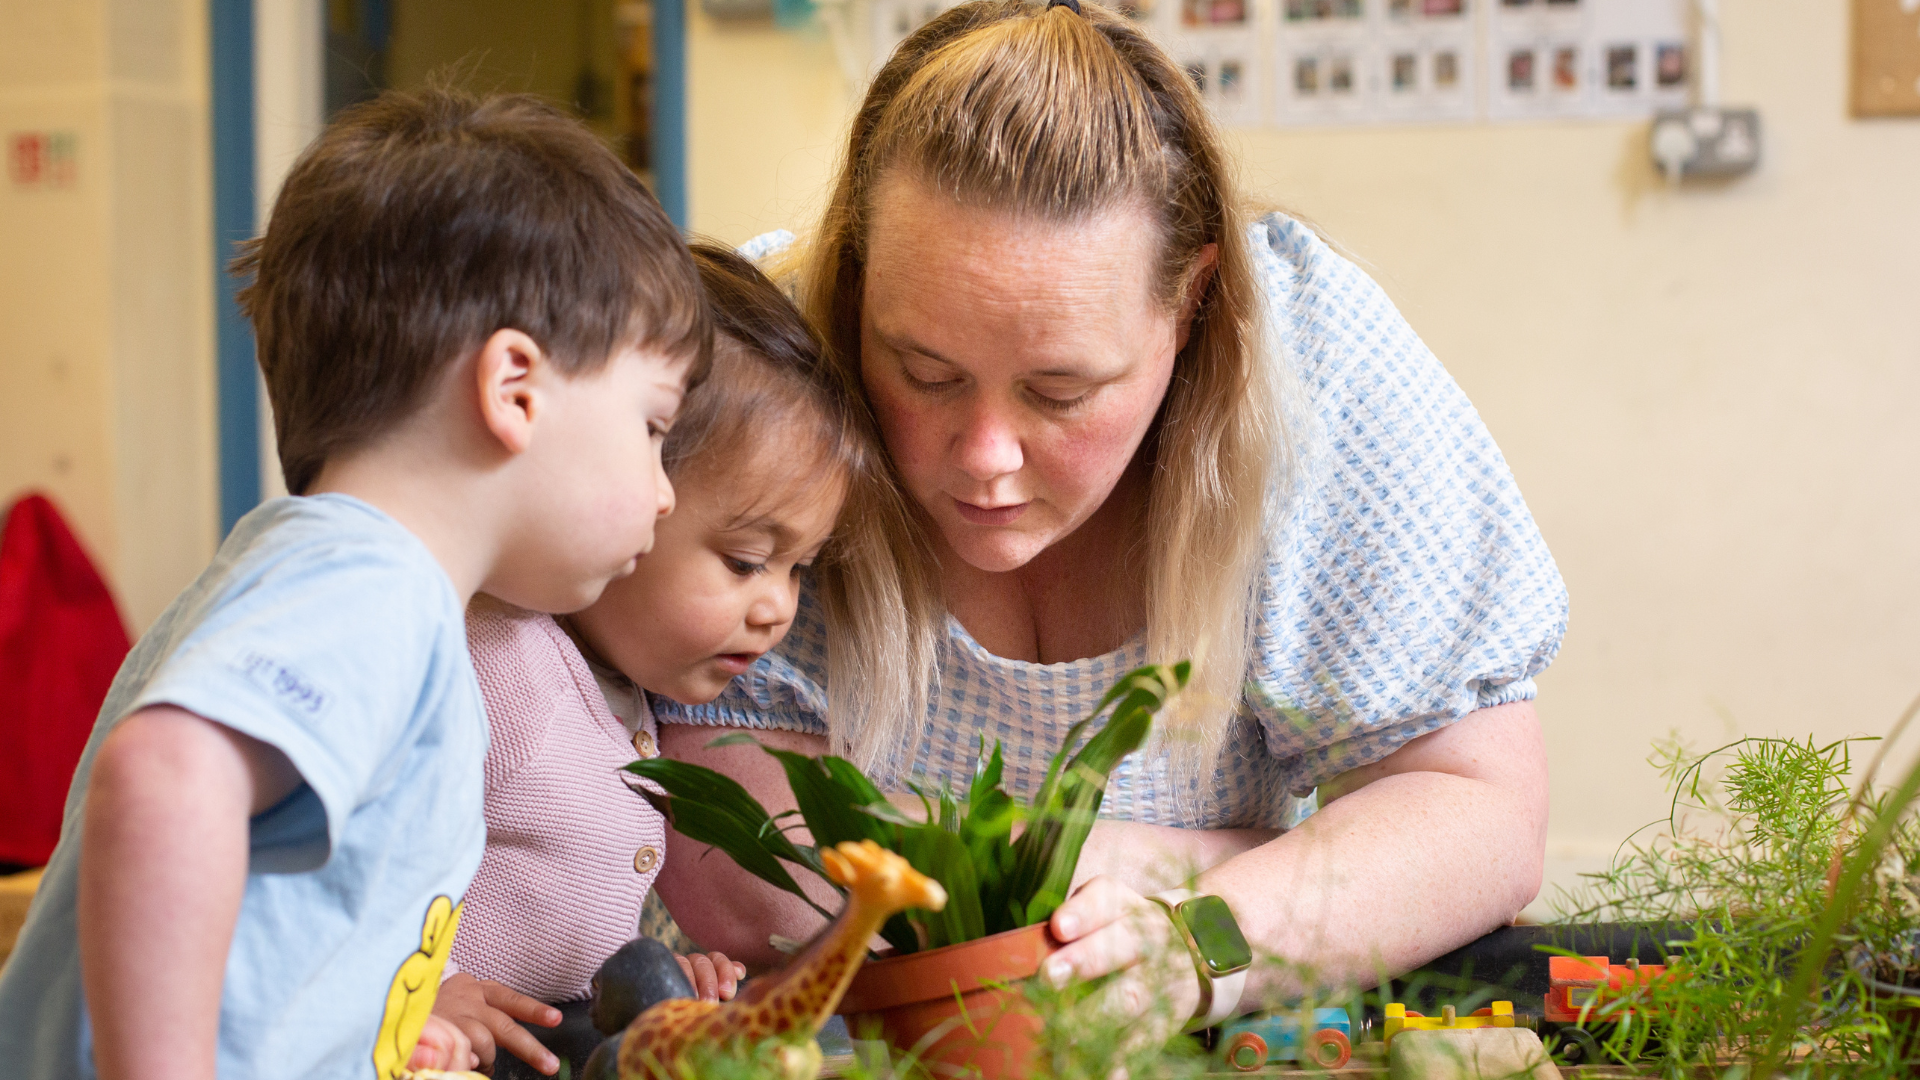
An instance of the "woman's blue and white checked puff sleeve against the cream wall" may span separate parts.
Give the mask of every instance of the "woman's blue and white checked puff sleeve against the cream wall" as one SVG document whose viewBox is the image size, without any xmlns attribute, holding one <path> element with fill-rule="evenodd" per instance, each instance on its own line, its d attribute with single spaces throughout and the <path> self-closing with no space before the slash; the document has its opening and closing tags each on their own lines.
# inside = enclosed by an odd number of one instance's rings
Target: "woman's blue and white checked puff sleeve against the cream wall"
<svg viewBox="0 0 1920 1080">
<path fill-rule="evenodd" d="M 1386 292 L 1286 217 L 1254 227 L 1308 465 L 1261 580 L 1250 705 L 1292 790 L 1530 700 L 1567 588 L 1480 415 Z"/>
</svg>

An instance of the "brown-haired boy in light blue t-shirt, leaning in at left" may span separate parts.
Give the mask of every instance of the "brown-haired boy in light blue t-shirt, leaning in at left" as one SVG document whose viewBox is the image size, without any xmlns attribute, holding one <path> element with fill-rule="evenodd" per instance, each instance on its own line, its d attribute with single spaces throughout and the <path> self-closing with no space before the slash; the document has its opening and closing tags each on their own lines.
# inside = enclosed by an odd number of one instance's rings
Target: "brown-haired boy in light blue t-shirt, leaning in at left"
<svg viewBox="0 0 1920 1080">
<path fill-rule="evenodd" d="M 574 611 L 672 507 L 685 244 L 524 96 L 388 94 L 242 256 L 288 490 L 127 657 L 0 978 L 10 1078 L 467 1068 L 430 1017 L 486 842 L 463 611 Z"/>
</svg>

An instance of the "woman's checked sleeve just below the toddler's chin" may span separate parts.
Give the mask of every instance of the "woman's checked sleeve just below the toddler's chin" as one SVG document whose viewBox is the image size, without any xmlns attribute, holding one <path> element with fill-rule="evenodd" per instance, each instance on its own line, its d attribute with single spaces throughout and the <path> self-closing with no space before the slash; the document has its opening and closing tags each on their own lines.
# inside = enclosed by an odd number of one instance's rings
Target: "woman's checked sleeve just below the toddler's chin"
<svg viewBox="0 0 1920 1080">
<path fill-rule="evenodd" d="M 780 646 L 753 661 L 718 698 L 682 705 L 655 696 L 653 715 L 662 724 L 789 730 L 828 734 L 828 628 L 812 582 L 801 586 L 793 626 Z"/>
</svg>

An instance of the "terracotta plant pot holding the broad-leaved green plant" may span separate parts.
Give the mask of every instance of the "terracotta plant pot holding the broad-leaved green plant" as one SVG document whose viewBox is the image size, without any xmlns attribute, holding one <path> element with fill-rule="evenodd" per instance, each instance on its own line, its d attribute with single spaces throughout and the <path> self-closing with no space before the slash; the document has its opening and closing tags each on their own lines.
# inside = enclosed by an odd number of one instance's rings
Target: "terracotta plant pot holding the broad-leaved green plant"
<svg viewBox="0 0 1920 1080">
<path fill-rule="evenodd" d="M 1041 1019 L 1020 982 L 1060 947 L 1046 924 L 977 942 L 870 961 L 852 978 L 841 1015 L 854 1038 L 879 1034 L 920 1061 L 977 1070 L 985 1080 L 1025 1076 Z M 935 1068 L 937 1074 L 947 1072 Z"/>
</svg>

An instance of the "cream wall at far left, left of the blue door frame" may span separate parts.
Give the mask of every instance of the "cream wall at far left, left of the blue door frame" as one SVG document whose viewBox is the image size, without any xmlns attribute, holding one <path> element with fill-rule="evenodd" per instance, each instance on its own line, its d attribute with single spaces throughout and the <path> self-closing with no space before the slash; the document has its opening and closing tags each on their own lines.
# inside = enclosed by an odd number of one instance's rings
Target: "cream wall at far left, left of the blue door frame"
<svg viewBox="0 0 1920 1080">
<path fill-rule="evenodd" d="M 0 181 L 0 496 L 52 492 L 142 630 L 213 553 L 204 0 L 0 0 L 0 136 L 77 135 L 71 188 Z"/>
</svg>

